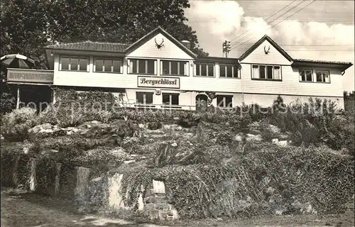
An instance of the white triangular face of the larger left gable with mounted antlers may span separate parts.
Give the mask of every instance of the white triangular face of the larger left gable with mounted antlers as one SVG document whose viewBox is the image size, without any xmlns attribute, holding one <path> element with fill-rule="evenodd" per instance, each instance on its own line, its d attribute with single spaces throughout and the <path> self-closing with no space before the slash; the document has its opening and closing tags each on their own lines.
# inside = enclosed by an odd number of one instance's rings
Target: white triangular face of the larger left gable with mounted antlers
<svg viewBox="0 0 355 227">
<path fill-rule="evenodd" d="M 157 44 L 163 46 L 158 49 Z M 126 49 L 128 57 L 195 59 L 196 55 L 162 28 L 157 28 Z"/>
</svg>

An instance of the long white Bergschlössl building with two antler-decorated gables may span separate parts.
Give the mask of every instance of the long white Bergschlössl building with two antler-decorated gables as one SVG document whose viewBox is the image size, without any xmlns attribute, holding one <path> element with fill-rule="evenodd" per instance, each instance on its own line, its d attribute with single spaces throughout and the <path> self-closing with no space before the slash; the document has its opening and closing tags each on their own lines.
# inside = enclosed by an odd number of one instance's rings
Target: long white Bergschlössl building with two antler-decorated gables
<svg viewBox="0 0 355 227">
<path fill-rule="evenodd" d="M 293 59 L 267 35 L 239 58 L 197 57 L 190 43 L 156 28 L 131 45 L 60 43 L 45 47 L 50 70 L 9 69 L 7 82 L 84 91 L 99 89 L 133 106 L 195 109 L 204 92 L 216 92 L 214 106 L 270 106 L 310 97 L 344 108 L 343 74 L 351 62 Z M 217 105 L 218 104 L 218 105 Z"/>
</svg>

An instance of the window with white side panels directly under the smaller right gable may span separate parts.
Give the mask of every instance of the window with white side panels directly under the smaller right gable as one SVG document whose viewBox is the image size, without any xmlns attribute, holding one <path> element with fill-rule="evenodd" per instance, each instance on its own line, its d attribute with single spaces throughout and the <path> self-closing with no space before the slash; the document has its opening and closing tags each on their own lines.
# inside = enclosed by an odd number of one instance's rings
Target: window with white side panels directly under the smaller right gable
<svg viewBox="0 0 355 227">
<path fill-rule="evenodd" d="M 251 65 L 251 77 L 253 79 L 281 79 L 280 65 Z"/>
</svg>

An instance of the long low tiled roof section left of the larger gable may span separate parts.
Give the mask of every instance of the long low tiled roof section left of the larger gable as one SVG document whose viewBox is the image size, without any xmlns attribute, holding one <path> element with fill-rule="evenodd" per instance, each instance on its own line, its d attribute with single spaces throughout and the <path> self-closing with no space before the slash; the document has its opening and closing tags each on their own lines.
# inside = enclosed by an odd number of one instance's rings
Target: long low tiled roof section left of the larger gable
<svg viewBox="0 0 355 227">
<path fill-rule="evenodd" d="M 84 41 L 79 43 L 59 43 L 55 45 L 45 46 L 45 49 L 55 50 L 84 50 L 98 52 L 125 52 L 129 44 L 125 43 L 100 43 L 92 41 Z"/>
</svg>

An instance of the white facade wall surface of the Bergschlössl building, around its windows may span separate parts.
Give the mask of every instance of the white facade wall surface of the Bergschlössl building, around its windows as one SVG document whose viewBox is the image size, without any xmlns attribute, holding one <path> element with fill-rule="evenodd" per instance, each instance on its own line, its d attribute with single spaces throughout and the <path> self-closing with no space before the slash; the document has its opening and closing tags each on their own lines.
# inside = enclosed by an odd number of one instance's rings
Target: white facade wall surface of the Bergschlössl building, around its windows
<svg viewBox="0 0 355 227">
<path fill-rule="evenodd" d="M 164 47 L 158 50 L 155 47 L 155 40 L 160 43 L 164 39 Z M 268 55 L 264 52 L 264 47 L 270 51 Z M 161 93 L 180 93 L 179 104 L 181 106 L 195 106 L 195 97 L 197 92 L 206 91 L 217 92 L 217 94 L 233 95 L 233 105 L 259 104 L 261 106 L 270 106 L 278 94 L 280 94 L 285 103 L 290 101 L 308 101 L 310 96 L 320 99 L 332 99 L 338 102 L 339 108 L 344 108 L 343 96 L 343 77 L 341 70 L 335 68 L 305 67 L 312 68 L 314 77 L 315 70 L 329 70 L 330 83 L 300 82 L 298 68 L 291 67 L 292 62 L 287 60 L 278 52 L 273 45 L 264 41 L 256 50 L 240 62 L 240 78 L 222 78 L 219 77 L 219 63 L 214 62 L 214 77 L 196 77 L 194 72 L 193 57 L 181 50 L 162 34 L 156 35 L 148 42 L 141 45 L 140 48 L 133 50 L 124 58 L 124 64 L 121 68 L 122 73 L 94 72 L 94 57 L 89 55 L 89 72 L 73 72 L 60 70 L 60 56 L 55 55 L 54 62 L 54 82 L 57 86 L 70 87 L 105 87 L 105 88 L 123 88 L 126 89 L 125 99 L 127 101 L 136 100 L 136 92 L 148 91 L 154 92 L 153 104 L 162 104 L 162 95 L 155 94 L 155 88 L 138 87 L 138 76 L 142 74 L 129 74 L 129 59 L 154 59 L 155 64 L 154 77 L 164 77 L 160 75 L 160 60 L 179 60 L 187 61 L 189 67 L 187 76 L 180 76 L 180 89 L 160 89 Z M 236 62 L 237 63 L 237 62 Z M 280 65 L 282 81 L 255 80 L 251 78 L 251 65 Z M 174 77 L 174 76 L 168 76 Z M 118 95 L 118 94 L 117 94 Z M 216 100 L 212 102 L 216 106 Z M 183 107 L 190 109 L 191 107 Z"/>
</svg>

